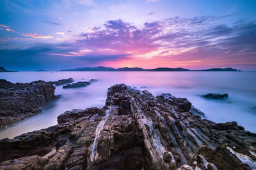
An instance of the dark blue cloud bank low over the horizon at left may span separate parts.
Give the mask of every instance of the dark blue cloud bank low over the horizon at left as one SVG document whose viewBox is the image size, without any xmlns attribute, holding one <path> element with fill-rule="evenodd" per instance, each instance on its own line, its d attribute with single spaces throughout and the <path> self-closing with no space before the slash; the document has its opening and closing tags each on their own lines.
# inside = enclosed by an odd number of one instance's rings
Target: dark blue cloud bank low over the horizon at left
<svg viewBox="0 0 256 170">
<path fill-rule="evenodd" d="M 29 48 L 0 49 L 0 63 L 18 70 L 66 69 L 69 67 L 95 66 L 104 61 L 127 59 L 129 54 L 90 53 L 90 50 L 79 50 L 72 43 L 39 44 Z M 72 54 L 72 55 L 65 55 Z"/>
</svg>

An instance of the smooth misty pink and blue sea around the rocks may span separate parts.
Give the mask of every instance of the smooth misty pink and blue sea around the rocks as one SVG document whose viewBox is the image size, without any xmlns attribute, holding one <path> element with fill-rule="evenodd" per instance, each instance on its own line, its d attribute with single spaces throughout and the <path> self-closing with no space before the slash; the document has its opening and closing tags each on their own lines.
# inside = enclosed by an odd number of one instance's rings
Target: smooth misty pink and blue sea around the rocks
<svg viewBox="0 0 256 170">
<path fill-rule="evenodd" d="M 57 124 L 57 117 L 67 110 L 102 108 L 108 88 L 125 83 L 140 90 L 149 90 L 154 96 L 170 93 L 186 97 L 205 118 L 214 122 L 236 121 L 246 130 L 256 132 L 256 72 L 13 72 L 0 73 L 0 78 L 13 83 L 35 80 L 56 81 L 63 78 L 75 81 L 99 81 L 88 87 L 62 89 L 56 87 L 60 99 L 44 106 L 42 113 L 28 118 L 5 131 L 0 139 L 13 138 L 25 132 L 44 129 Z M 205 99 L 207 93 L 227 93 L 227 100 Z"/>
</svg>

